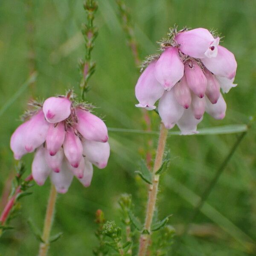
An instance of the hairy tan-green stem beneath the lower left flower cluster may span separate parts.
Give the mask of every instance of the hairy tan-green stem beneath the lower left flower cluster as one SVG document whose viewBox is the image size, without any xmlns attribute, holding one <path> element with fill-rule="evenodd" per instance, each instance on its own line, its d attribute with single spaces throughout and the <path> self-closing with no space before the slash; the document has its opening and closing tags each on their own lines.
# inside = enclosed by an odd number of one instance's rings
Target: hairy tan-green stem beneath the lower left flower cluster
<svg viewBox="0 0 256 256">
<path fill-rule="evenodd" d="M 51 228 L 52 228 L 52 221 L 53 221 L 53 217 L 54 217 L 56 198 L 57 198 L 56 189 L 55 189 L 54 185 L 51 185 L 51 191 L 50 191 L 50 195 L 49 195 L 49 201 L 48 201 L 45 220 L 44 220 L 44 230 L 43 230 L 43 235 L 42 235 L 42 239 L 43 239 L 44 243 L 42 242 L 40 244 L 39 254 L 38 254 L 39 256 L 47 255 L 47 251 L 49 248 L 49 236 L 50 236 Z"/>
</svg>

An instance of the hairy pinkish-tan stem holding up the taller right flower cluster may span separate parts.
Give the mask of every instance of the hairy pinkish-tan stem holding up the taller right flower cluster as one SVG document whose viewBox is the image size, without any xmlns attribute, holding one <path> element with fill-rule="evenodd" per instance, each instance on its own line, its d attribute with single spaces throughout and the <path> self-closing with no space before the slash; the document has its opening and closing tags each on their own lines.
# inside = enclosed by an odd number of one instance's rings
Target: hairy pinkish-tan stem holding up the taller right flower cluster
<svg viewBox="0 0 256 256">
<path fill-rule="evenodd" d="M 160 128 L 158 146 L 157 146 L 157 154 L 156 154 L 153 173 L 152 173 L 152 185 L 150 185 L 148 189 L 148 205 L 147 205 L 145 224 L 144 224 L 144 229 L 147 230 L 147 232 L 140 236 L 139 256 L 146 255 L 148 241 L 150 239 L 150 232 L 151 232 L 150 229 L 151 229 L 154 209 L 157 201 L 157 191 L 158 191 L 158 184 L 159 184 L 159 175 L 156 175 L 155 173 L 158 171 L 158 169 L 162 165 L 167 134 L 168 134 L 168 130 L 164 127 L 162 123 Z"/>
</svg>

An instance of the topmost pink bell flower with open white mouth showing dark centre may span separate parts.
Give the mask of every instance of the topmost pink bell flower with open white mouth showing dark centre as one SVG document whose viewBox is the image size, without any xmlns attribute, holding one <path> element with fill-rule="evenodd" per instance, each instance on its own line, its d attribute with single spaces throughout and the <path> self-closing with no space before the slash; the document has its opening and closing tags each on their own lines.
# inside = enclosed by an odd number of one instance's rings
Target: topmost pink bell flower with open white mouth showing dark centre
<svg viewBox="0 0 256 256">
<path fill-rule="evenodd" d="M 207 29 L 197 28 L 179 32 L 175 40 L 181 52 L 193 58 L 214 58 L 218 54 L 220 38 L 214 39 Z"/>
</svg>

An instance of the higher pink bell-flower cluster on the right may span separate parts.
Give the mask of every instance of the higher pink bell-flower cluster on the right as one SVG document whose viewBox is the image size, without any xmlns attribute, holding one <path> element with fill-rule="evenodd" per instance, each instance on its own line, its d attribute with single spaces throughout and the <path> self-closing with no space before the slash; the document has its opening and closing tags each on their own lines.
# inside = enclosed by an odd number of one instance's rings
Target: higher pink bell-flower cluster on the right
<svg viewBox="0 0 256 256">
<path fill-rule="evenodd" d="M 227 93 L 236 75 L 232 52 L 218 45 L 219 38 L 203 28 L 175 33 L 172 44 L 164 47 L 160 57 L 150 62 L 135 87 L 137 107 L 158 112 L 166 126 L 177 124 L 181 134 L 197 133 L 197 125 L 206 111 L 223 119 L 226 102 L 220 88 Z"/>
</svg>

